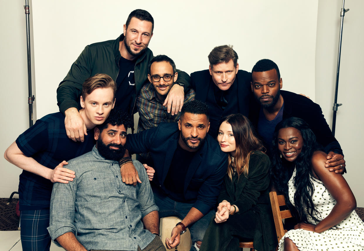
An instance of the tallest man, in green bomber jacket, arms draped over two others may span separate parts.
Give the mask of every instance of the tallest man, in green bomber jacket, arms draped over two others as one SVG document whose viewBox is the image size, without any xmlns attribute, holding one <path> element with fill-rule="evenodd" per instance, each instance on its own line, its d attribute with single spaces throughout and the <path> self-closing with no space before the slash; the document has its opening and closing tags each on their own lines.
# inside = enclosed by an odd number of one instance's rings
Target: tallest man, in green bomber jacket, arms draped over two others
<svg viewBox="0 0 364 251">
<path fill-rule="evenodd" d="M 153 52 L 147 48 L 153 36 L 154 20 L 149 12 L 136 9 L 130 13 L 123 34 L 116 40 L 87 45 L 57 89 L 59 110 L 66 116 L 64 123 L 67 136 L 83 141 L 86 127 L 79 115 L 79 99 L 82 83 L 96 73 L 105 73 L 117 85 L 115 107 L 122 108 L 129 115 L 136 112 L 135 99 L 148 82 L 148 63 Z M 168 112 L 172 115 L 181 111 L 184 91 L 188 91 L 190 77 L 179 72 L 175 84 L 166 98 Z M 97 118 L 96 118 L 97 119 Z"/>
</svg>

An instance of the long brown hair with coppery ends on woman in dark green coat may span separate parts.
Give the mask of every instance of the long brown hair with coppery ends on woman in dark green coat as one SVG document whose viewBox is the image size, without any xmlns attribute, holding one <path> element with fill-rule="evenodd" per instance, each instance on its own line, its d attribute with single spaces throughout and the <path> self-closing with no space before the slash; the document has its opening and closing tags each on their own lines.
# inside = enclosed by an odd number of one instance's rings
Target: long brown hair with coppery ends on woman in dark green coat
<svg viewBox="0 0 364 251">
<path fill-rule="evenodd" d="M 234 173 L 233 167 L 235 166 L 238 177 L 240 177 L 241 174 L 244 174 L 247 177 L 249 172 L 250 155 L 253 151 L 265 152 L 265 148 L 261 140 L 257 138 L 252 123 L 244 115 L 240 113 L 231 114 L 224 117 L 222 122 L 224 121 L 231 125 L 236 145 L 234 161 L 232 156 L 229 154 L 227 175 L 230 180 L 232 180 Z"/>
</svg>

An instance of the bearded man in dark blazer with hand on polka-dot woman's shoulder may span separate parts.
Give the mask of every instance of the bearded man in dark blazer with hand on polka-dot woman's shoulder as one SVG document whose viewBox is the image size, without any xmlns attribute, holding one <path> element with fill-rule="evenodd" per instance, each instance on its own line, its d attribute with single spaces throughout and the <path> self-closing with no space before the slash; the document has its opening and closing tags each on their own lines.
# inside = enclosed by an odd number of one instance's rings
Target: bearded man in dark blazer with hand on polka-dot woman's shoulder
<svg viewBox="0 0 364 251">
<path fill-rule="evenodd" d="M 305 96 L 281 91 L 282 78 L 276 63 L 259 60 L 252 69 L 251 89 L 256 102 L 250 104 L 249 119 L 257 128 L 267 150 L 270 150 L 276 125 L 288 118 L 298 117 L 306 121 L 316 135 L 317 142 L 328 153 L 326 167 L 341 173 L 345 168 L 343 150 L 332 135 L 320 105 Z"/>
</svg>

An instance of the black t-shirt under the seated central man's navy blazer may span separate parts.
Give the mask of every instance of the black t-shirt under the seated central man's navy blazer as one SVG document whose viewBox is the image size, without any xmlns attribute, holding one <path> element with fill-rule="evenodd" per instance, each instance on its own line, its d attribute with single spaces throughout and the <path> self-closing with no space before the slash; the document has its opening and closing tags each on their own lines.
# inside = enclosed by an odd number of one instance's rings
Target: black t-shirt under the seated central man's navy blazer
<svg viewBox="0 0 364 251">
<path fill-rule="evenodd" d="M 164 182 L 164 191 L 167 193 L 168 197 L 183 202 L 183 187 L 185 186 L 185 178 L 187 174 L 188 167 L 190 166 L 193 156 L 196 152 L 189 152 L 183 150 L 179 144 L 174 152 L 171 166 L 168 170 Z"/>
</svg>

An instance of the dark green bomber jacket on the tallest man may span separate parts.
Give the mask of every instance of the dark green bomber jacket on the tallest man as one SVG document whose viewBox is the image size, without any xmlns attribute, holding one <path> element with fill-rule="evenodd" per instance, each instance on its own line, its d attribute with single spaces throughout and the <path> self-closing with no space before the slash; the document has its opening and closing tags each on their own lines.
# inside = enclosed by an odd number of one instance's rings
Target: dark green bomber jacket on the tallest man
<svg viewBox="0 0 364 251">
<path fill-rule="evenodd" d="M 81 52 L 76 61 L 72 64 L 67 76 L 57 88 L 57 104 L 59 111 L 64 113 L 68 108 L 79 107 L 79 97 L 82 91 L 82 84 L 90 76 L 97 73 L 109 75 L 116 81 L 119 73 L 119 41 L 124 39 L 120 35 L 116 40 L 108 40 L 99 43 L 87 45 Z M 148 64 L 153 59 L 153 52 L 146 48 L 145 52 L 140 55 L 134 67 L 134 79 L 136 92 L 133 94 L 134 106 L 135 99 L 148 81 Z M 186 72 L 178 71 L 177 82 L 184 85 L 185 93 L 190 89 L 190 76 Z M 132 107 L 129 114 L 136 112 L 137 109 Z"/>
</svg>

